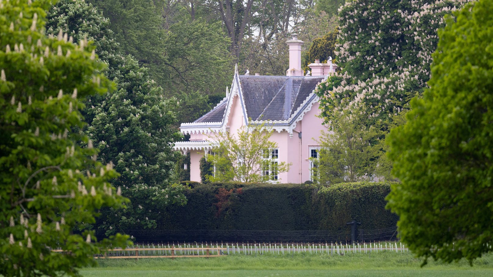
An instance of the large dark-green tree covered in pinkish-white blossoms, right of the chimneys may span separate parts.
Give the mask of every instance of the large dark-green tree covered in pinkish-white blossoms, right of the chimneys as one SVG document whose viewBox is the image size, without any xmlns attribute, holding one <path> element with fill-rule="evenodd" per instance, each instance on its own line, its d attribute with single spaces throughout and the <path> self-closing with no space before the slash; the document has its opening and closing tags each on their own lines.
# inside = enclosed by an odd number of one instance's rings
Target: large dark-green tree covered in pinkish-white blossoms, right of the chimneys
<svg viewBox="0 0 493 277">
<path fill-rule="evenodd" d="M 389 121 L 421 94 L 443 16 L 468 0 L 348 1 L 341 7 L 340 76 L 317 93 L 326 122 L 334 110 L 364 114 L 369 124 Z"/>
</svg>

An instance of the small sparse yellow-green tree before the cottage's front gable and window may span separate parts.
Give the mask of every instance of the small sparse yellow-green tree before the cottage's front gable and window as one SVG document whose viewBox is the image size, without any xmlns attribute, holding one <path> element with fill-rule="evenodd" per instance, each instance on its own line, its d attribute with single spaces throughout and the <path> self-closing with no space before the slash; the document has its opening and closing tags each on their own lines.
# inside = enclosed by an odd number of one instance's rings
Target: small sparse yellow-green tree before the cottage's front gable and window
<svg viewBox="0 0 493 277">
<path fill-rule="evenodd" d="M 273 130 L 267 130 L 264 124 L 243 127 L 238 134 L 219 133 L 212 136 L 217 143 L 213 154 L 207 155 L 207 161 L 215 167 L 209 180 L 242 182 L 261 182 L 277 180 L 274 176 L 289 170 L 291 164 L 273 160 L 272 151 L 278 145 L 270 141 Z"/>
</svg>

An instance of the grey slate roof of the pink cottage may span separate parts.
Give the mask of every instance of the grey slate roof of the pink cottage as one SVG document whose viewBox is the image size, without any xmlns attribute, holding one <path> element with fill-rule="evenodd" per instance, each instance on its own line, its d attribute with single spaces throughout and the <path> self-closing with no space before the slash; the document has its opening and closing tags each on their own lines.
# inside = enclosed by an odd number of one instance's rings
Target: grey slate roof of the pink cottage
<svg viewBox="0 0 493 277">
<path fill-rule="evenodd" d="M 325 76 L 238 75 L 248 118 L 287 120 Z M 227 106 L 223 99 L 195 123 L 221 122 Z"/>
</svg>

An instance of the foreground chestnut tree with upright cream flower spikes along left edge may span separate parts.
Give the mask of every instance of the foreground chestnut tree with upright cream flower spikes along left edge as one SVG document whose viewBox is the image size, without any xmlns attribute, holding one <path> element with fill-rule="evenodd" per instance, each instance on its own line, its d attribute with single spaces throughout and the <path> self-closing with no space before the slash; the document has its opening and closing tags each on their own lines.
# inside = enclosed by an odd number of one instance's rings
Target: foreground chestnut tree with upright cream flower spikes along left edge
<svg viewBox="0 0 493 277">
<path fill-rule="evenodd" d="M 44 34 L 47 0 L 0 2 L 0 275 L 80 276 L 93 254 L 124 246 L 126 237 L 97 242 L 98 210 L 125 202 L 108 181 L 112 164 L 82 133 L 80 101 L 111 82 L 97 73 L 94 46 L 68 34 Z M 83 141 L 86 146 L 79 146 Z M 91 158 L 92 157 L 92 158 Z M 71 254 L 52 252 L 62 248 Z"/>
</svg>

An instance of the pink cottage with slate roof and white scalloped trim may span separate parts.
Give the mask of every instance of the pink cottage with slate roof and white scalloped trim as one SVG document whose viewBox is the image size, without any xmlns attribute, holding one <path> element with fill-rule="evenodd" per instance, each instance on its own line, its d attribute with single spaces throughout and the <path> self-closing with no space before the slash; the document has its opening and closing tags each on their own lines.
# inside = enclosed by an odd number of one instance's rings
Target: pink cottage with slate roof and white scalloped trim
<svg viewBox="0 0 493 277">
<path fill-rule="evenodd" d="M 331 58 L 327 64 L 316 60 L 309 65 L 312 75 L 304 76 L 301 69 L 303 41 L 294 35 L 286 43 L 289 45 L 286 76 L 240 75 L 236 68 L 226 97 L 199 119 L 181 124 L 180 131 L 190 134 L 190 141 L 175 142 L 174 148 L 183 154 L 190 153 L 191 181 L 201 181 L 199 161 L 213 148 L 212 132 L 235 134 L 244 126 L 262 123 L 275 130 L 270 140 L 279 147 L 272 149 L 272 158 L 292 164 L 288 172 L 275 173 L 273 179 L 282 183 L 303 183 L 312 179 L 310 158 L 317 158 L 317 139 L 321 131 L 327 130 L 318 117 L 318 97 L 314 90 L 327 74 L 335 72 L 337 65 L 332 64 Z"/>
</svg>

